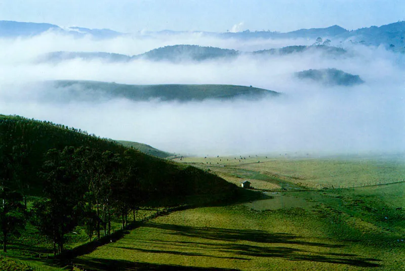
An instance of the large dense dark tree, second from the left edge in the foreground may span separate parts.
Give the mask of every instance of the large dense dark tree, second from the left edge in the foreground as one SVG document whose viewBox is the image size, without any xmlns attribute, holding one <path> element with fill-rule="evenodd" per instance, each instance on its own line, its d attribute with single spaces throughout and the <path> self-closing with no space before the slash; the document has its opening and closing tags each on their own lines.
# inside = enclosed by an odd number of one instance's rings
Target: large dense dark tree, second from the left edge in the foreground
<svg viewBox="0 0 405 271">
<path fill-rule="evenodd" d="M 80 179 L 73 147 L 51 149 L 43 167 L 46 200 L 34 204 L 33 224 L 52 239 L 54 255 L 62 252 L 65 234 L 74 230 L 83 213 L 85 184 Z"/>
</svg>

